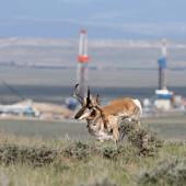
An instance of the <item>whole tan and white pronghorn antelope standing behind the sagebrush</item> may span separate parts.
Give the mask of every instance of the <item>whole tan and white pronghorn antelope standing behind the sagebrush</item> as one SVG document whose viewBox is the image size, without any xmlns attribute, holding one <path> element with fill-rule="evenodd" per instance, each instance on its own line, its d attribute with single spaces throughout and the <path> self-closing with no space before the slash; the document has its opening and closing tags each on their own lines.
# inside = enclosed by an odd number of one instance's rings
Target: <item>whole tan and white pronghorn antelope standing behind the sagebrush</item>
<svg viewBox="0 0 186 186">
<path fill-rule="evenodd" d="M 88 97 L 83 98 L 78 94 L 78 86 L 74 86 L 73 96 L 80 102 L 81 109 L 75 114 L 75 119 L 86 119 L 89 132 L 100 141 L 119 139 L 118 119 L 125 118 L 139 123 L 142 114 L 141 104 L 138 100 L 129 97 L 117 98 L 106 106 L 101 106 L 98 95 L 93 97 L 88 88 Z"/>
</svg>

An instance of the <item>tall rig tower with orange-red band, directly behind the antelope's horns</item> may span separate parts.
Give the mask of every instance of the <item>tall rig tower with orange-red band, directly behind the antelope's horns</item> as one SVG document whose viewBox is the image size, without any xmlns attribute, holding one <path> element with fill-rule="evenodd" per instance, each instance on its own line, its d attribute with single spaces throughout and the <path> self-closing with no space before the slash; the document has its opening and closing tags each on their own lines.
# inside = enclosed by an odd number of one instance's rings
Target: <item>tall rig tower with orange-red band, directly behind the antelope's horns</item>
<svg viewBox="0 0 186 186">
<path fill-rule="evenodd" d="M 78 56 L 78 83 L 79 94 L 84 97 L 88 92 L 88 32 L 85 30 L 80 31 L 79 42 L 79 56 Z"/>
</svg>

